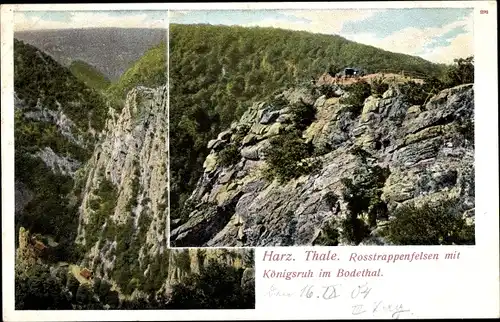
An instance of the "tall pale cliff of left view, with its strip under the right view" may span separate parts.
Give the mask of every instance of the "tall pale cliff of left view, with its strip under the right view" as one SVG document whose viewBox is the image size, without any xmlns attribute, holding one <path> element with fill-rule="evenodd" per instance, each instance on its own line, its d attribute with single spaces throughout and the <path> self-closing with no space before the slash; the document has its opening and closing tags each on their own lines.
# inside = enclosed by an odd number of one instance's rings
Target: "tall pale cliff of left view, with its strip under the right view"
<svg viewBox="0 0 500 322">
<path fill-rule="evenodd" d="M 82 198 L 77 243 L 87 250 L 81 265 L 128 294 L 131 280 L 137 289 L 155 280 L 155 288 L 168 293 L 210 259 L 253 267 L 244 260 L 245 250 L 168 249 L 167 87 L 137 87 L 122 111 L 111 110 L 110 115 L 100 143 L 76 179 Z M 144 281 L 139 281 L 141 276 Z"/>
</svg>

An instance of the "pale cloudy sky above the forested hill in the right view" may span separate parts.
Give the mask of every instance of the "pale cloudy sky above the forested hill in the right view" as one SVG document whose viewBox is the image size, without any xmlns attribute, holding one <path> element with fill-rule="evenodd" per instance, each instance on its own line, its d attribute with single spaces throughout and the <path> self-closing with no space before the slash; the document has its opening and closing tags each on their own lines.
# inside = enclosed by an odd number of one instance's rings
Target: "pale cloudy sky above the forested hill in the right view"
<svg viewBox="0 0 500 322">
<path fill-rule="evenodd" d="M 393 52 L 450 63 L 473 54 L 472 9 L 171 11 L 170 23 L 265 26 L 337 34 Z"/>
</svg>

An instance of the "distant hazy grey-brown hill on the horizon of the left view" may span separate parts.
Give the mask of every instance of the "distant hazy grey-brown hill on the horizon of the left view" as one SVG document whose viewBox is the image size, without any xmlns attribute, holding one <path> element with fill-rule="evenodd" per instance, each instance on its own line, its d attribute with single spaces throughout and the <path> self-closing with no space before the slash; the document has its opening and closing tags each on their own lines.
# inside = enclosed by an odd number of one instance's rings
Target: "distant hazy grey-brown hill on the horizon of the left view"
<svg viewBox="0 0 500 322">
<path fill-rule="evenodd" d="M 15 37 L 48 53 L 63 66 L 81 60 L 117 80 L 151 47 L 166 39 L 166 29 L 85 28 L 16 32 Z"/>
</svg>

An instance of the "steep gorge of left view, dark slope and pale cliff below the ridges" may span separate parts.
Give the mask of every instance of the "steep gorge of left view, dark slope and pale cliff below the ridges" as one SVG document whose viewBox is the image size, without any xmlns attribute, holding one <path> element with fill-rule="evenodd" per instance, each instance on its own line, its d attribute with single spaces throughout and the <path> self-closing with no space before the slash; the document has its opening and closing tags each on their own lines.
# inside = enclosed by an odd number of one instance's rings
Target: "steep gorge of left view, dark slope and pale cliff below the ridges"
<svg viewBox="0 0 500 322">
<path fill-rule="evenodd" d="M 252 283 L 252 252 L 168 249 L 168 88 L 162 79 L 150 79 L 151 87 L 128 82 L 123 104 L 109 104 L 35 47 L 16 40 L 15 49 L 21 299 L 46 292 L 36 287 L 47 281 L 62 285 L 52 297 L 71 297 L 69 308 L 126 308 L 127 301 L 171 296 L 184 281 L 206 278 L 214 262 L 222 274 L 227 269 L 241 278 L 238 287 Z M 87 270 L 90 279 L 80 275 Z M 82 294 L 101 281 L 110 283 L 110 293 L 83 303 Z M 121 304 L 108 303 L 113 294 Z M 249 301 L 244 305 L 253 305 Z"/>
</svg>

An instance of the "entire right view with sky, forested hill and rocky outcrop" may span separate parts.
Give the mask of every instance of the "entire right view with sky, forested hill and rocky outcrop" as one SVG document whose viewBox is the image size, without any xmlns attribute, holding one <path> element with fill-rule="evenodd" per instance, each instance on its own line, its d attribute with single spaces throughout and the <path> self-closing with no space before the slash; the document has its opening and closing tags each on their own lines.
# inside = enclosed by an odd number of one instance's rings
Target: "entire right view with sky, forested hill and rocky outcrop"
<svg viewBox="0 0 500 322">
<path fill-rule="evenodd" d="M 170 11 L 170 246 L 474 245 L 472 14 Z"/>
</svg>

